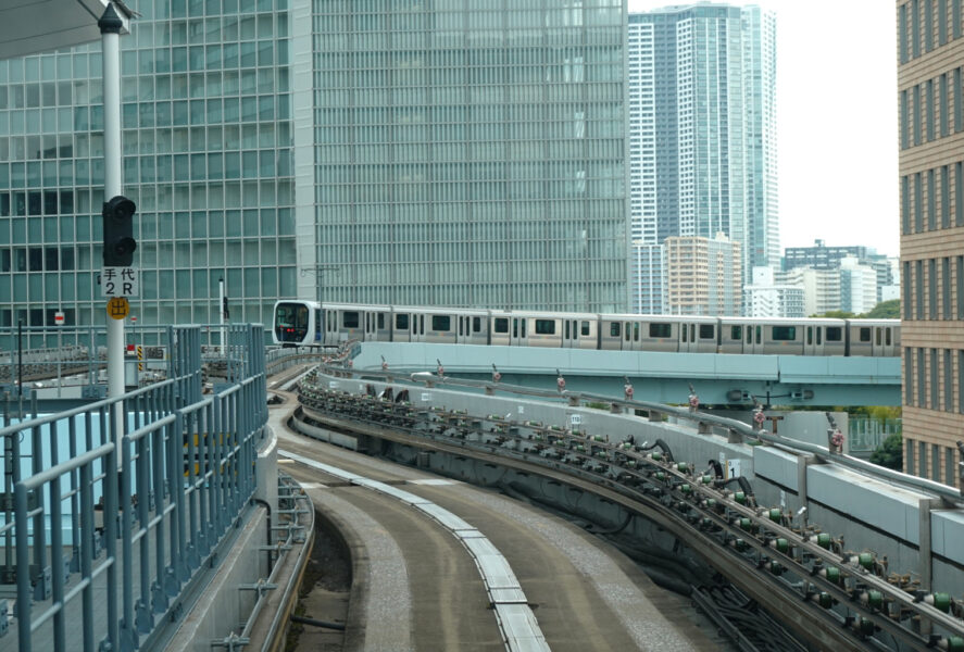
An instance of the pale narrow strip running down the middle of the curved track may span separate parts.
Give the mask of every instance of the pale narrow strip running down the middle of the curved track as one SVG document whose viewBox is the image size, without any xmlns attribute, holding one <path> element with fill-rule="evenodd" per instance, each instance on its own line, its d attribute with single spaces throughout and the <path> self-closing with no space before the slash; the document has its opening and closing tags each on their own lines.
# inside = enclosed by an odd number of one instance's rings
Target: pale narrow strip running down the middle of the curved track
<svg viewBox="0 0 964 652">
<path fill-rule="evenodd" d="M 512 572 L 512 567 L 502 553 L 477 528 L 472 527 L 455 514 L 442 509 L 430 500 L 398 489 L 386 482 L 373 480 L 337 466 L 316 462 L 290 451 L 279 450 L 278 454 L 341 478 L 352 485 L 365 487 L 400 500 L 451 531 L 462 542 L 475 560 L 476 566 L 478 566 L 479 575 L 481 575 L 483 581 L 486 584 L 489 601 L 492 603 L 493 611 L 496 612 L 496 620 L 502 632 L 505 649 L 510 652 L 548 652 L 549 644 L 546 642 L 546 637 L 542 636 L 542 630 L 536 622 L 536 616 L 529 607 L 515 573 Z"/>
</svg>

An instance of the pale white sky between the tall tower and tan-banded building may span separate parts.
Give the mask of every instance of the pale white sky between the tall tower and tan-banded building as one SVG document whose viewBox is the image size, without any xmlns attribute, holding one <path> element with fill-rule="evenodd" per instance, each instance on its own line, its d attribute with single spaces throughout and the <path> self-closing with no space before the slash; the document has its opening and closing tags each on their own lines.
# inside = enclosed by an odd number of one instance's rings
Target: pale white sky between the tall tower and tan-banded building
<svg viewBox="0 0 964 652">
<path fill-rule="evenodd" d="M 629 11 L 685 2 L 629 0 Z M 900 253 L 897 26 L 892 1 L 735 0 L 777 17 L 780 251 Z"/>
</svg>

